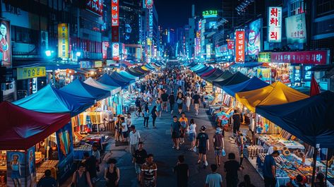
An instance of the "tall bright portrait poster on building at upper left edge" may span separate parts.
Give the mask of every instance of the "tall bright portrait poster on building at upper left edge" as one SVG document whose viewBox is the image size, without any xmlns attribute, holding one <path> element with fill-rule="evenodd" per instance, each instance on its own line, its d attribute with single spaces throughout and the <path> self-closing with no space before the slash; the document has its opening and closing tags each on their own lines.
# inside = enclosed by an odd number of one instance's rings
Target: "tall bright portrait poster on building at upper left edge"
<svg viewBox="0 0 334 187">
<path fill-rule="evenodd" d="M 11 25 L 8 20 L 0 19 L 0 58 L 1 66 L 11 67 Z"/>
</svg>

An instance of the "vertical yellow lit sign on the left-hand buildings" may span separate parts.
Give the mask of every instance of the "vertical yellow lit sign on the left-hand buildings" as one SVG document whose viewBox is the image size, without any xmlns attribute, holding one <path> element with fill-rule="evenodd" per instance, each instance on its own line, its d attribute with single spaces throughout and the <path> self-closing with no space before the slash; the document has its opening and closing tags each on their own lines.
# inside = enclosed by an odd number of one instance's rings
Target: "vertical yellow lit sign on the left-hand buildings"
<svg viewBox="0 0 334 187">
<path fill-rule="evenodd" d="M 58 24 L 58 57 L 68 58 L 68 24 Z"/>
</svg>

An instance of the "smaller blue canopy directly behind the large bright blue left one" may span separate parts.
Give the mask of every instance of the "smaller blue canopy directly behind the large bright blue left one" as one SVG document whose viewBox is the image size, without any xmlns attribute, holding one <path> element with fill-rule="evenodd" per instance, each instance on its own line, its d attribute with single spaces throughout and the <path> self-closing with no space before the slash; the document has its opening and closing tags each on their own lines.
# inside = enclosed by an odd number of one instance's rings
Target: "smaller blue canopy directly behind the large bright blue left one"
<svg viewBox="0 0 334 187">
<path fill-rule="evenodd" d="M 110 96 L 110 92 L 107 90 L 102 90 L 100 88 L 95 88 L 94 86 L 83 83 L 82 81 L 76 79 L 72 83 L 66 85 L 60 89 L 61 91 L 68 92 L 72 95 L 79 95 L 83 97 L 93 97 L 96 100 L 105 99 Z"/>
</svg>

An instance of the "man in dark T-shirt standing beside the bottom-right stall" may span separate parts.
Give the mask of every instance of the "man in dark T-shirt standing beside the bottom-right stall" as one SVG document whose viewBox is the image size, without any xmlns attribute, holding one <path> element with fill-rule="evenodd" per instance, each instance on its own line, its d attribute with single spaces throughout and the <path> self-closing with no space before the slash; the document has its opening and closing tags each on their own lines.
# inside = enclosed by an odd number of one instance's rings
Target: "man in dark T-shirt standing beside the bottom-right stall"
<svg viewBox="0 0 334 187">
<path fill-rule="evenodd" d="M 263 163 L 263 177 L 265 187 L 275 187 L 276 185 L 276 162 L 275 157 L 280 156 L 280 152 L 275 150 L 271 155 L 266 155 Z"/>
</svg>

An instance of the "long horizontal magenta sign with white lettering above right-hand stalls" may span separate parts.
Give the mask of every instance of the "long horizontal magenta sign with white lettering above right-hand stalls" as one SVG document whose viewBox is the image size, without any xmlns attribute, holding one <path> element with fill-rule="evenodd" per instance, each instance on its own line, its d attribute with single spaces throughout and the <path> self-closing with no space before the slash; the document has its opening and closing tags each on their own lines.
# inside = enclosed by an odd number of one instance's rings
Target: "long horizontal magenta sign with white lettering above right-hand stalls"
<svg viewBox="0 0 334 187">
<path fill-rule="evenodd" d="M 291 64 L 318 64 L 329 63 L 329 51 L 306 51 L 306 52 L 272 52 L 271 62 Z"/>
</svg>

